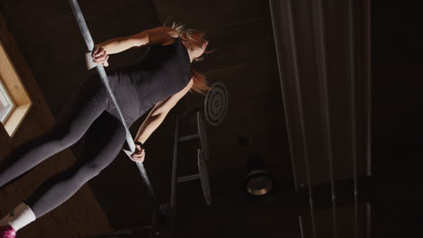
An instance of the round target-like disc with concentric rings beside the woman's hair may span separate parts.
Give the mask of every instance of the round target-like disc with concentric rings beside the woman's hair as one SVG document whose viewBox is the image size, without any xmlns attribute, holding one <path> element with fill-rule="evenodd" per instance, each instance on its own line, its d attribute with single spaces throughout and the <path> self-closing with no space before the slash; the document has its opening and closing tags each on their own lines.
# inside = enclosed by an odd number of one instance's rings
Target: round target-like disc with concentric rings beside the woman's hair
<svg viewBox="0 0 423 238">
<path fill-rule="evenodd" d="M 204 115 L 211 125 L 221 124 L 228 110 L 228 91 L 222 82 L 215 82 L 204 100 Z"/>
</svg>

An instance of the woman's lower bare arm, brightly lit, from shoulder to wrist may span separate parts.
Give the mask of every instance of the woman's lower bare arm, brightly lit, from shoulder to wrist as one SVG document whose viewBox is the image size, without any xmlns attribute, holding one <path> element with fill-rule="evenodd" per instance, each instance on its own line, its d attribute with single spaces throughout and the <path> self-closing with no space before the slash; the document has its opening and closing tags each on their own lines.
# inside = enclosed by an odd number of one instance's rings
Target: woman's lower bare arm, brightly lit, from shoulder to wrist
<svg viewBox="0 0 423 238">
<path fill-rule="evenodd" d="M 164 117 L 169 113 L 174 105 L 176 105 L 179 99 L 181 99 L 190 90 L 191 87 L 193 87 L 193 78 L 186 87 L 183 87 L 181 91 L 155 104 L 153 109 L 151 109 L 150 113 L 146 116 L 144 123 L 139 127 L 135 141 L 142 143 L 146 142 L 155 129 L 162 124 Z"/>
</svg>

